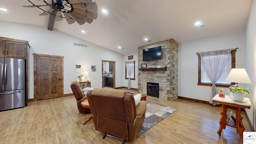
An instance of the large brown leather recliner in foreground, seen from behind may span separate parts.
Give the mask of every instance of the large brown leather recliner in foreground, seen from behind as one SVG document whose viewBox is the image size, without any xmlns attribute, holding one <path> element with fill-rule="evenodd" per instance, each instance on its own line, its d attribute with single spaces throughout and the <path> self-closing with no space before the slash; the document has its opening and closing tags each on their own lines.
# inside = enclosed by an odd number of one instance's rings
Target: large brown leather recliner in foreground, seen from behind
<svg viewBox="0 0 256 144">
<path fill-rule="evenodd" d="M 87 92 L 95 130 L 132 141 L 145 119 L 146 101 L 135 106 L 134 97 L 125 90 L 99 88 Z"/>
</svg>

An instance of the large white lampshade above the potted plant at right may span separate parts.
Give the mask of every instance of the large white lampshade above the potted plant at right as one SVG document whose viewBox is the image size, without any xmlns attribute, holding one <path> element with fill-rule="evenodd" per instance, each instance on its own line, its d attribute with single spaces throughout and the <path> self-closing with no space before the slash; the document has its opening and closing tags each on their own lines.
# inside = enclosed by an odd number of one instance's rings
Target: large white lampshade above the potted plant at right
<svg viewBox="0 0 256 144">
<path fill-rule="evenodd" d="M 236 82 L 236 83 L 244 83 L 251 84 L 251 80 L 244 68 L 232 68 L 228 77 L 226 78 L 226 82 Z"/>
</svg>

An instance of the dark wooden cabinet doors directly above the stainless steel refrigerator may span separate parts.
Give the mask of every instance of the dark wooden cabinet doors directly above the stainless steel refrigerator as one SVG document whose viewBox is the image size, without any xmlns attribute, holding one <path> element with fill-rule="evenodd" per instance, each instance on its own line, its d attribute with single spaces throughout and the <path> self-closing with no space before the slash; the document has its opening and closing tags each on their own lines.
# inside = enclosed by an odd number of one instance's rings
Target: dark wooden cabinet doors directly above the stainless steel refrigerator
<svg viewBox="0 0 256 144">
<path fill-rule="evenodd" d="M 0 56 L 12 58 L 27 58 L 28 44 L 22 42 L 0 40 Z"/>
</svg>

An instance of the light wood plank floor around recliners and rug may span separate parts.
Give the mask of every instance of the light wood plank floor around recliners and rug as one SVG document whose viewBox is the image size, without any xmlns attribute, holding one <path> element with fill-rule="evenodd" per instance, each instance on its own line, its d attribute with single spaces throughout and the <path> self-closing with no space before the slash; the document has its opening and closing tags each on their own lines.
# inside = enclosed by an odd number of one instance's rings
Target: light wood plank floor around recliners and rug
<svg viewBox="0 0 256 144">
<path fill-rule="evenodd" d="M 236 129 L 226 126 L 219 137 L 221 107 L 187 100 L 147 100 L 178 110 L 126 144 L 242 144 Z M 234 110 L 233 110 L 234 111 Z M 244 112 L 245 131 L 250 131 Z M 122 140 L 94 130 L 90 114 L 78 114 L 74 96 L 30 102 L 24 108 L 0 112 L 0 144 L 121 144 Z"/>
</svg>

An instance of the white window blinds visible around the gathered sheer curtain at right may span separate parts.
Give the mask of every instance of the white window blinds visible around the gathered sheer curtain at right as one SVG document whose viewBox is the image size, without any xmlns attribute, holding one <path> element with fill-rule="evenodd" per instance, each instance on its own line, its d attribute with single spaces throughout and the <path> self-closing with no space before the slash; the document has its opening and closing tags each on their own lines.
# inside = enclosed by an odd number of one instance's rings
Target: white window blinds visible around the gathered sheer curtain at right
<svg viewBox="0 0 256 144">
<path fill-rule="evenodd" d="M 217 58 L 217 56 L 205 57 L 205 59 L 207 59 L 207 61 L 208 61 L 208 63 L 206 63 L 206 65 L 208 65 L 208 66 L 213 65 L 216 58 Z M 222 72 L 220 78 L 217 80 L 216 84 L 230 85 L 231 82 L 226 82 L 225 80 L 228 77 L 228 74 L 232 68 L 231 53 L 222 55 L 222 56 L 218 56 L 218 60 L 221 60 L 223 64 L 226 64 L 226 66 L 225 66 L 224 71 Z M 227 63 L 226 63 L 226 60 L 228 60 Z M 211 67 L 211 68 L 214 68 L 214 67 Z M 218 71 L 218 69 L 216 71 Z M 201 83 L 202 84 L 212 84 L 211 80 L 209 79 L 208 75 L 206 74 L 204 64 L 202 64 L 202 60 L 201 60 Z"/>
</svg>

